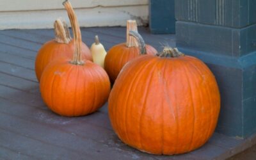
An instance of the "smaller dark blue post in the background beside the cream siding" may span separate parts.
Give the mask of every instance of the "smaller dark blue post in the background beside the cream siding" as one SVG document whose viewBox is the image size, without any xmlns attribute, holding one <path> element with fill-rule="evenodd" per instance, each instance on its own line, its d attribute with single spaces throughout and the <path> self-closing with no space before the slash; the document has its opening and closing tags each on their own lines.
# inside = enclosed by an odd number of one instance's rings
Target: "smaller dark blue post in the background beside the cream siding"
<svg viewBox="0 0 256 160">
<path fill-rule="evenodd" d="M 150 0 L 148 10 L 151 33 L 175 33 L 174 0 Z"/>
</svg>

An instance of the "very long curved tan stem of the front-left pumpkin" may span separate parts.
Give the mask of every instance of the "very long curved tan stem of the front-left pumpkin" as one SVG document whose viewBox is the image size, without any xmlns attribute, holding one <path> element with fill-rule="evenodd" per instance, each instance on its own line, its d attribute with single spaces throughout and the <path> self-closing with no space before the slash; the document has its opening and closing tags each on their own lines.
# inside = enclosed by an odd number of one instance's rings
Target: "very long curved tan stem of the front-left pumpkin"
<svg viewBox="0 0 256 160">
<path fill-rule="evenodd" d="M 68 0 L 64 1 L 63 5 L 67 10 L 68 18 L 70 20 L 72 31 L 74 34 L 75 52 L 73 54 L 73 60 L 70 61 L 70 63 L 74 65 L 83 65 L 84 61 L 82 60 L 82 56 L 81 56 L 82 36 L 81 36 L 81 30 L 77 21 L 76 13 L 74 12 L 71 3 Z"/>
</svg>

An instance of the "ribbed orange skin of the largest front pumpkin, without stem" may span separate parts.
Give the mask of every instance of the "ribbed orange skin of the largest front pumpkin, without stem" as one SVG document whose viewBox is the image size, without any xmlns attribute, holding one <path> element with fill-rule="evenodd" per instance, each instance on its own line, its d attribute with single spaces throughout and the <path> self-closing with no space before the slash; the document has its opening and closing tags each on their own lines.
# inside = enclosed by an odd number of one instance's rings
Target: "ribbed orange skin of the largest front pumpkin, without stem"
<svg viewBox="0 0 256 160">
<path fill-rule="evenodd" d="M 116 79 L 108 109 L 127 145 L 150 154 L 182 154 L 211 137 L 220 92 L 211 70 L 196 58 L 141 56 Z"/>
</svg>

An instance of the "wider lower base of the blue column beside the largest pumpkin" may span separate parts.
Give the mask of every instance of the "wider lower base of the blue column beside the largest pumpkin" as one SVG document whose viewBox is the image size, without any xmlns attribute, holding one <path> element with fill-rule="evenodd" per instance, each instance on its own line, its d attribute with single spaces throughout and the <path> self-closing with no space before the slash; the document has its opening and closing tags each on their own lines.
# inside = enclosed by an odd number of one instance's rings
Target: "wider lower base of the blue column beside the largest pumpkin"
<svg viewBox="0 0 256 160">
<path fill-rule="evenodd" d="M 204 61 L 216 77 L 221 93 L 216 132 L 239 138 L 255 134 L 256 52 L 236 58 L 177 47 Z"/>
</svg>

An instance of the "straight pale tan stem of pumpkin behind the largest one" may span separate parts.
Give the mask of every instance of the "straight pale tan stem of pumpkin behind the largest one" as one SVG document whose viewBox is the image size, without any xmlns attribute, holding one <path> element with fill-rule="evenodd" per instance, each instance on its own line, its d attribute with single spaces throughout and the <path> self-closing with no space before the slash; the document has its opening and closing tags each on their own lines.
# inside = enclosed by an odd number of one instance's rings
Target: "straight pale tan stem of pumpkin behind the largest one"
<svg viewBox="0 0 256 160">
<path fill-rule="evenodd" d="M 136 38 L 129 35 L 130 31 L 137 31 L 138 32 L 136 20 L 127 20 L 127 24 L 126 24 L 126 46 L 127 47 L 138 47 L 138 42 L 137 42 Z"/>
</svg>

